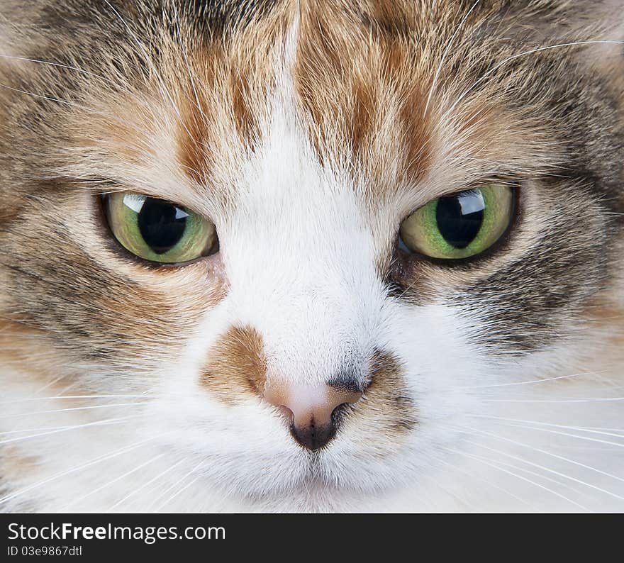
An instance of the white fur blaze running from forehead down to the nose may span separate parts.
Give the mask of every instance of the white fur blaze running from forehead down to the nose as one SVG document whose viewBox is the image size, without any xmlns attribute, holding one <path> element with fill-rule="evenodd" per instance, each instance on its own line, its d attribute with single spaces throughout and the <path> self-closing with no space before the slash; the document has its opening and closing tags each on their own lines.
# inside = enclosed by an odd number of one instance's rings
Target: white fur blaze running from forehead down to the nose
<svg viewBox="0 0 624 563">
<path fill-rule="evenodd" d="M 259 330 L 270 372 L 320 384 L 372 351 L 384 289 L 358 191 L 318 162 L 283 68 L 221 252 L 232 322 Z"/>
</svg>

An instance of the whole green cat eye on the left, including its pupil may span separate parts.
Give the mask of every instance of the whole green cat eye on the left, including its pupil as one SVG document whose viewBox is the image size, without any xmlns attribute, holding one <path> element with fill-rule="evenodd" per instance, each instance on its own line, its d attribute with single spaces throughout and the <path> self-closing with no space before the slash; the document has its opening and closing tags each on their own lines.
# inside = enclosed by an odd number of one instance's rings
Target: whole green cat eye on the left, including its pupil
<svg viewBox="0 0 624 563">
<path fill-rule="evenodd" d="M 118 243 L 144 260 L 174 264 L 219 250 L 213 223 L 168 201 L 118 192 L 104 196 L 104 210 Z"/>
</svg>

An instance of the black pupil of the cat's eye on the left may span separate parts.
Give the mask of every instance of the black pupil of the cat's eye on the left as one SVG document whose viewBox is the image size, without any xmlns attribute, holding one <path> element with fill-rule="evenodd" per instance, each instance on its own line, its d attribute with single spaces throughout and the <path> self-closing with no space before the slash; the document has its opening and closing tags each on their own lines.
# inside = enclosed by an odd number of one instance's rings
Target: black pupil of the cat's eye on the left
<svg viewBox="0 0 624 563">
<path fill-rule="evenodd" d="M 164 254 L 182 240 L 187 213 L 160 199 L 148 197 L 138 213 L 143 240 L 156 254 Z"/>
</svg>

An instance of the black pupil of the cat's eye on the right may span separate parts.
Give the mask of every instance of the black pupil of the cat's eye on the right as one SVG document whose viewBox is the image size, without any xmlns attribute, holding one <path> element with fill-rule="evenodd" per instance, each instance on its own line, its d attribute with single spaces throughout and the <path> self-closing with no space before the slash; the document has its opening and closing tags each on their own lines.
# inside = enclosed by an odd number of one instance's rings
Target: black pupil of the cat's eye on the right
<svg viewBox="0 0 624 563">
<path fill-rule="evenodd" d="M 484 210 L 483 194 L 477 189 L 440 198 L 435 211 L 440 234 L 455 248 L 467 247 L 481 229 Z"/>
</svg>

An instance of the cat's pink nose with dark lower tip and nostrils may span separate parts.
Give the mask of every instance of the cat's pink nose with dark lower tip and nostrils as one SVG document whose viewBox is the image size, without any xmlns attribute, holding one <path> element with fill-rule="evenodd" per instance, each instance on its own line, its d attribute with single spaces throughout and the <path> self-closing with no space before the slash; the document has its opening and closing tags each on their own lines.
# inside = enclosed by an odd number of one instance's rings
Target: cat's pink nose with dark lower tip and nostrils
<svg viewBox="0 0 624 563">
<path fill-rule="evenodd" d="M 345 404 L 357 402 L 362 393 L 355 386 L 301 386 L 267 384 L 264 400 L 282 408 L 291 420 L 291 434 L 308 450 L 319 450 L 335 436 L 337 417 Z"/>
</svg>

